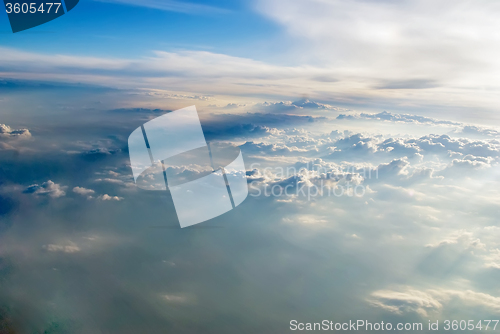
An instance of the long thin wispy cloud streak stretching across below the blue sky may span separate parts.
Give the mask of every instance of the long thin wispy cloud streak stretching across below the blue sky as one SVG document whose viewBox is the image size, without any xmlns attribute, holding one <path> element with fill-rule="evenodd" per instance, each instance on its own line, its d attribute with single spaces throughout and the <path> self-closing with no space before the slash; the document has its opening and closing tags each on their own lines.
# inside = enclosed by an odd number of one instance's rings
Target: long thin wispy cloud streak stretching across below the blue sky
<svg viewBox="0 0 500 334">
<path fill-rule="evenodd" d="M 493 100 L 490 94 L 500 90 L 498 83 L 492 82 L 490 90 L 477 94 L 475 86 L 457 87 L 445 82 L 452 81 L 453 76 L 447 79 L 443 76 L 440 87 L 379 89 L 377 85 L 381 80 L 392 74 L 377 66 L 371 72 L 361 73 L 345 66 L 285 66 L 207 51 L 153 51 L 147 57 L 127 59 L 49 55 L 0 48 L 0 63 L 3 64 L 0 75 L 4 78 L 78 82 L 126 89 L 171 90 L 175 87 L 177 92 L 196 95 L 275 96 L 279 99 L 306 95 L 350 106 L 494 110 L 496 98 Z M 321 75 L 338 80 L 317 80 Z"/>
</svg>

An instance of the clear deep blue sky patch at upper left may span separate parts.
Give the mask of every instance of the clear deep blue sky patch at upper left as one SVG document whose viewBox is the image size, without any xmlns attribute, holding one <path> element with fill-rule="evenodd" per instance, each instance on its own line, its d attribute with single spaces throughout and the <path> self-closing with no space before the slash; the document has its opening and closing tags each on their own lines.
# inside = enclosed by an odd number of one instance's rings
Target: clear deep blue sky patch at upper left
<svg viewBox="0 0 500 334">
<path fill-rule="evenodd" d="M 62 20 L 17 35 L 8 34 L 8 18 L 2 12 L 0 24 L 5 33 L 0 43 L 30 51 L 92 56 L 139 57 L 151 50 L 189 49 L 265 58 L 259 45 L 263 40 L 279 40 L 277 25 L 256 13 L 248 1 L 191 2 L 178 7 L 181 11 L 84 0 Z"/>
</svg>

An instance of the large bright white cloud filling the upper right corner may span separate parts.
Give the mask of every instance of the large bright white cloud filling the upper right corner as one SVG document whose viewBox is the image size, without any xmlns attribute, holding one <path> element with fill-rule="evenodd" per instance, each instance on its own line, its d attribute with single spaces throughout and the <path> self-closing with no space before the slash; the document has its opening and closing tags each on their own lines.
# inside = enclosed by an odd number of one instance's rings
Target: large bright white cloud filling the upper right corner
<svg viewBox="0 0 500 334">
<path fill-rule="evenodd" d="M 295 38 L 288 57 L 323 64 L 344 85 L 343 96 L 357 91 L 402 105 L 448 104 L 445 96 L 461 107 L 496 103 L 495 0 L 260 0 L 256 8 Z M 330 87 L 338 93 L 335 83 Z"/>
</svg>

